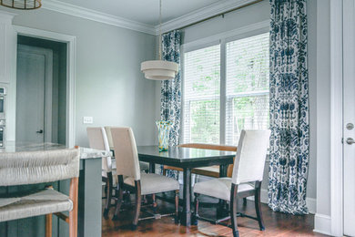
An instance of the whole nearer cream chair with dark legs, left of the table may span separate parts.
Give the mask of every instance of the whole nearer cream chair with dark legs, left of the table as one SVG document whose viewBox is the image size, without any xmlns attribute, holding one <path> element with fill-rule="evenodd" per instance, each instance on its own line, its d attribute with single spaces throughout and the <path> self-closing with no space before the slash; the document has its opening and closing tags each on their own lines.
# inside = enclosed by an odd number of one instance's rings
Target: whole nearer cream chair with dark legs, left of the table
<svg viewBox="0 0 355 237">
<path fill-rule="evenodd" d="M 115 156 L 117 162 L 117 175 L 118 175 L 118 201 L 117 210 L 114 219 L 117 219 L 122 198 L 123 189 L 136 192 L 136 209 L 135 216 L 132 222 L 133 229 L 137 228 L 139 221 L 139 213 L 141 207 L 142 195 L 153 195 L 153 206 L 156 207 L 155 194 L 164 191 L 175 191 L 175 216 L 177 221 L 178 215 L 178 190 L 179 184 L 177 180 L 157 175 L 155 173 L 140 172 L 139 161 L 137 154 L 136 140 L 132 129 L 130 128 L 111 128 L 112 139 L 115 147 Z M 127 176 L 124 179 L 124 176 Z"/>
</svg>

